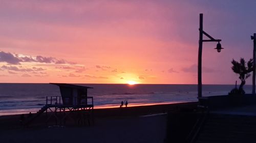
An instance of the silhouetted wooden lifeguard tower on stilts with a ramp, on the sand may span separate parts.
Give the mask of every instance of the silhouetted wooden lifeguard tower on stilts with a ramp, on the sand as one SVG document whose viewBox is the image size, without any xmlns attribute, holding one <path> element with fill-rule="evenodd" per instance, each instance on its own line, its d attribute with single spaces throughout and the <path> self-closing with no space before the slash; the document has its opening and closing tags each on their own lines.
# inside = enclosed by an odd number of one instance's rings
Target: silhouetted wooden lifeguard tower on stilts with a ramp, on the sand
<svg viewBox="0 0 256 143">
<path fill-rule="evenodd" d="M 85 118 L 87 118 L 89 125 L 90 121 L 94 123 L 93 97 L 89 97 L 87 92 L 88 89 L 93 88 L 67 83 L 50 84 L 58 85 L 61 96 L 47 96 L 46 105 L 42 107 L 34 117 L 28 119 L 25 124 L 30 124 L 44 112 L 46 112 L 46 122 L 55 118 L 56 125 L 65 124 L 67 118 L 73 121 L 77 120 L 78 122 L 85 121 Z"/>
</svg>

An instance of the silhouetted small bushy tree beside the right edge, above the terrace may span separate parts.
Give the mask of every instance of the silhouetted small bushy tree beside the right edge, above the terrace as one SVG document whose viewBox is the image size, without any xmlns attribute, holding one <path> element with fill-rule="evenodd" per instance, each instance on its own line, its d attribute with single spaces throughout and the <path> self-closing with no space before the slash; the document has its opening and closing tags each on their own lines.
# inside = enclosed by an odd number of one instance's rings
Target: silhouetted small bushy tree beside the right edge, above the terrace
<svg viewBox="0 0 256 143">
<path fill-rule="evenodd" d="M 250 72 L 253 71 L 253 62 L 252 59 L 250 59 L 247 62 L 244 61 L 243 58 L 240 59 L 240 63 L 237 61 L 232 60 L 232 70 L 234 73 L 239 74 L 239 79 L 241 80 L 241 84 L 239 86 L 239 89 L 233 89 L 229 94 L 245 94 L 243 86 L 245 85 L 245 79 L 247 79 L 250 76 Z"/>
</svg>

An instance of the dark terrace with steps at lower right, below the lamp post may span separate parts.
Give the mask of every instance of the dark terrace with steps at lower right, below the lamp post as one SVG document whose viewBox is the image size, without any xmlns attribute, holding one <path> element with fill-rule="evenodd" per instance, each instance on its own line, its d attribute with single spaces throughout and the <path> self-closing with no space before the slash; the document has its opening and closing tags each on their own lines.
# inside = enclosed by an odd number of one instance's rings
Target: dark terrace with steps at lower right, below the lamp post
<svg viewBox="0 0 256 143">
<path fill-rule="evenodd" d="M 165 142 L 256 142 L 256 97 L 204 97 L 196 110 L 169 112 Z"/>
</svg>

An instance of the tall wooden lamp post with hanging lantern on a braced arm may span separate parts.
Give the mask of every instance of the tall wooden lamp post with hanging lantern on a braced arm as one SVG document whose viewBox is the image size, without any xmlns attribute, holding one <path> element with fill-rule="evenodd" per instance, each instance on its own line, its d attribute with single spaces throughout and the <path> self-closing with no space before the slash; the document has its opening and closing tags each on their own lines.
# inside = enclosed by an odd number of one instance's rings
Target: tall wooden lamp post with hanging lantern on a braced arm
<svg viewBox="0 0 256 143">
<path fill-rule="evenodd" d="M 203 40 L 203 35 L 207 36 L 209 40 Z M 199 50 L 198 50 L 198 98 L 202 97 L 202 48 L 203 42 L 218 42 L 217 49 L 221 52 L 220 39 L 214 39 L 209 34 L 203 31 L 203 14 L 200 13 L 200 24 L 199 24 Z"/>
</svg>

